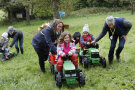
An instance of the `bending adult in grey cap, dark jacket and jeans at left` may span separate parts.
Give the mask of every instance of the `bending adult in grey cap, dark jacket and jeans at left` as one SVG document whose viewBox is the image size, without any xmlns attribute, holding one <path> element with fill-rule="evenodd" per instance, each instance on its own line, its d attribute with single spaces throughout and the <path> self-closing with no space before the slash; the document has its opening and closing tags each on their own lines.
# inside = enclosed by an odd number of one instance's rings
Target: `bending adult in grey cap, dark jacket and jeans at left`
<svg viewBox="0 0 135 90">
<path fill-rule="evenodd" d="M 23 54 L 23 33 L 19 30 L 16 30 L 13 26 L 9 26 L 8 27 L 8 37 L 13 38 L 13 41 L 10 44 L 8 49 L 10 50 L 10 48 L 12 48 L 12 46 L 15 44 L 15 48 L 17 51 L 16 54 L 18 54 L 19 53 L 18 41 L 19 41 L 21 54 Z"/>
</svg>

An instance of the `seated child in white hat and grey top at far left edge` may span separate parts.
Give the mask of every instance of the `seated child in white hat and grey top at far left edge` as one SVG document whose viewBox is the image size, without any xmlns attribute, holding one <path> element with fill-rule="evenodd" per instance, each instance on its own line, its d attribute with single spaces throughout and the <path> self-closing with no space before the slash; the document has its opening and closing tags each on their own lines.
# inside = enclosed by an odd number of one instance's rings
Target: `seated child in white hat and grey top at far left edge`
<svg viewBox="0 0 135 90">
<path fill-rule="evenodd" d="M 4 53 L 4 60 L 8 60 L 8 33 L 4 32 L 0 39 L 0 52 Z"/>
</svg>

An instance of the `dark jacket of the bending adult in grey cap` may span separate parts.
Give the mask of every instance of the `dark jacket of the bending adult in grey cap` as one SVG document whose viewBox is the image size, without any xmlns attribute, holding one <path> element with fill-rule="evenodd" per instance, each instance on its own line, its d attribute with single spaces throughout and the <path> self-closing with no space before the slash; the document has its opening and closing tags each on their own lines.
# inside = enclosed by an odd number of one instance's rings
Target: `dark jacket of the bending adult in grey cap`
<svg viewBox="0 0 135 90">
<path fill-rule="evenodd" d="M 23 33 L 22 33 L 22 31 L 19 31 L 19 30 L 13 30 L 12 35 L 10 35 L 9 32 L 8 32 L 8 38 L 13 38 L 13 41 L 10 44 L 10 47 L 12 47 L 17 40 L 23 38 Z"/>
</svg>

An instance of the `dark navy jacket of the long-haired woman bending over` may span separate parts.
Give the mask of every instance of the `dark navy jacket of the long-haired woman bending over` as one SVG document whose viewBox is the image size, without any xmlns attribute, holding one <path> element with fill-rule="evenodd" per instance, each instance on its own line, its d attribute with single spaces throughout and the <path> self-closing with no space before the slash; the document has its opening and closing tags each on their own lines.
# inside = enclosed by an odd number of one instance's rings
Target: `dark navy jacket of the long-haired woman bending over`
<svg viewBox="0 0 135 90">
<path fill-rule="evenodd" d="M 50 26 L 42 29 L 33 37 L 33 42 L 36 45 L 36 48 L 43 48 L 49 46 L 49 48 L 56 53 L 56 46 L 53 44 L 57 40 L 57 35 L 53 32 L 54 24 L 50 23 Z M 48 51 L 49 52 L 49 51 Z"/>
</svg>

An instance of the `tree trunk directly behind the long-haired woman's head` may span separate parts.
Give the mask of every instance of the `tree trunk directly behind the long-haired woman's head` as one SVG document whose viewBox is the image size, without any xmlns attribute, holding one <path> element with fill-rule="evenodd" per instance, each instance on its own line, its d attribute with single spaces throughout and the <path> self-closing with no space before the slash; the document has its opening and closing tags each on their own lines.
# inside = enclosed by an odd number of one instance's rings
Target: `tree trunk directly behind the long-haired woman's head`
<svg viewBox="0 0 135 90">
<path fill-rule="evenodd" d="M 53 19 L 58 19 L 58 4 L 59 4 L 59 0 L 53 0 Z"/>
</svg>

